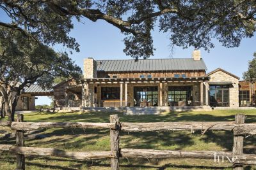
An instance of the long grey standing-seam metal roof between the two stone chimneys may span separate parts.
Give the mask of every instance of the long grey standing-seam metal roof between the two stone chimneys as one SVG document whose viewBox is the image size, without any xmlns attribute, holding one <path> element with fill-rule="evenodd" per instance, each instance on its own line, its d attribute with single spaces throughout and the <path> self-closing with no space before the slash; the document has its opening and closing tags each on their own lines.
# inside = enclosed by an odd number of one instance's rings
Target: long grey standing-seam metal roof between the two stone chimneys
<svg viewBox="0 0 256 170">
<path fill-rule="evenodd" d="M 206 69 L 207 67 L 203 59 L 97 60 L 97 71 L 174 71 Z"/>
</svg>

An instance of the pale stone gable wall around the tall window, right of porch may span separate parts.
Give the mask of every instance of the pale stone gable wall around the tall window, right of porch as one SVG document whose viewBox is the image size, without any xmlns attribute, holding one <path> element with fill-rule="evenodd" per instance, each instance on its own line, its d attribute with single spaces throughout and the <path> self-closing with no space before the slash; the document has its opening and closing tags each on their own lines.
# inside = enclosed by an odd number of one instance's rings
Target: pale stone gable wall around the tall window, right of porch
<svg viewBox="0 0 256 170">
<path fill-rule="evenodd" d="M 229 106 L 230 107 L 238 107 L 239 106 L 239 80 L 234 76 L 230 76 L 223 71 L 216 71 L 209 75 L 211 79 L 209 82 L 223 82 L 223 81 L 231 81 L 232 85 L 229 89 Z"/>
</svg>

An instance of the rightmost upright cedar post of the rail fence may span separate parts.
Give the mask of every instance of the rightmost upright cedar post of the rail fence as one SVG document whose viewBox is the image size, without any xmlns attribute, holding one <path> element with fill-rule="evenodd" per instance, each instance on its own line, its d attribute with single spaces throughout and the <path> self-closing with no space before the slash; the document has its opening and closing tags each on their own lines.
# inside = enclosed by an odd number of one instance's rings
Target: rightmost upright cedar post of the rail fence
<svg viewBox="0 0 256 170">
<path fill-rule="evenodd" d="M 237 114 L 235 116 L 236 124 L 244 124 L 245 116 L 244 114 Z M 233 154 L 242 154 L 244 147 L 244 136 L 234 134 L 234 144 L 233 144 Z M 243 165 L 234 164 L 234 170 L 243 170 Z"/>
</svg>

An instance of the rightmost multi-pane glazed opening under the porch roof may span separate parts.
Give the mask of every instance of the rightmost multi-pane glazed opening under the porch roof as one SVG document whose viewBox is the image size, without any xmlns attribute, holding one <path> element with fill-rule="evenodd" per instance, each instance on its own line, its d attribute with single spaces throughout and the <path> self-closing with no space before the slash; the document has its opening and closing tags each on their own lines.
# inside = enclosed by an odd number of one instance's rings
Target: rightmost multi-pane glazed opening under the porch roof
<svg viewBox="0 0 256 170">
<path fill-rule="evenodd" d="M 169 86 L 168 87 L 168 101 L 169 106 L 179 106 L 179 101 L 187 103 L 192 100 L 192 87 L 191 86 Z"/>
</svg>

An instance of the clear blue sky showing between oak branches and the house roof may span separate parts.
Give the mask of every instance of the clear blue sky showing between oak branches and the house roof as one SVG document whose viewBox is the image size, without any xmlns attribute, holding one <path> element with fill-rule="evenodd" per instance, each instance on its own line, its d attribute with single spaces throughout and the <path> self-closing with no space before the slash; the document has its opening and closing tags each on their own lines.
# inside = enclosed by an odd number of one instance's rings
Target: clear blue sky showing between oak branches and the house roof
<svg viewBox="0 0 256 170">
<path fill-rule="evenodd" d="M 6 20 L 1 10 L 0 16 L 0 20 Z M 103 20 L 92 22 L 84 19 L 83 23 L 74 22 L 74 29 L 70 32 L 70 36 L 76 38 L 80 45 L 80 52 L 74 52 L 70 55 L 78 66 L 83 69 L 83 59 L 87 57 L 93 57 L 94 59 L 131 59 L 123 52 L 124 42 L 122 39 L 124 35 L 121 34 L 119 29 Z M 156 28 L 152 35 L 156 51 L 154 56 L 150 57 L 151 59 L 191 57 L 193 47 L 182 49 L 182 47 L 175 46 L 171 56 L 168 34 L 163 34 Z M 243 79 L 243 72 L 248 68 L 248 60 L 252 60 L 253 52 L 256 52 L 256 38 L 243 39 L 241 45 L 237 48 L 225 48 L 216 40 L 214 40 L 214 45 L 215 47 L 210 52 L 200 49 L 202 58 L 208 68 L 207 72 L 221 67 L 239 76 L 240 80 Z M 54 48 L 57 51 L 68 50 L 61 45 L 54 46 Z M 47 97 L 38 97 L 36 100 L 36 104 L 49 104 L 50 102 Z"/>
</svg>

